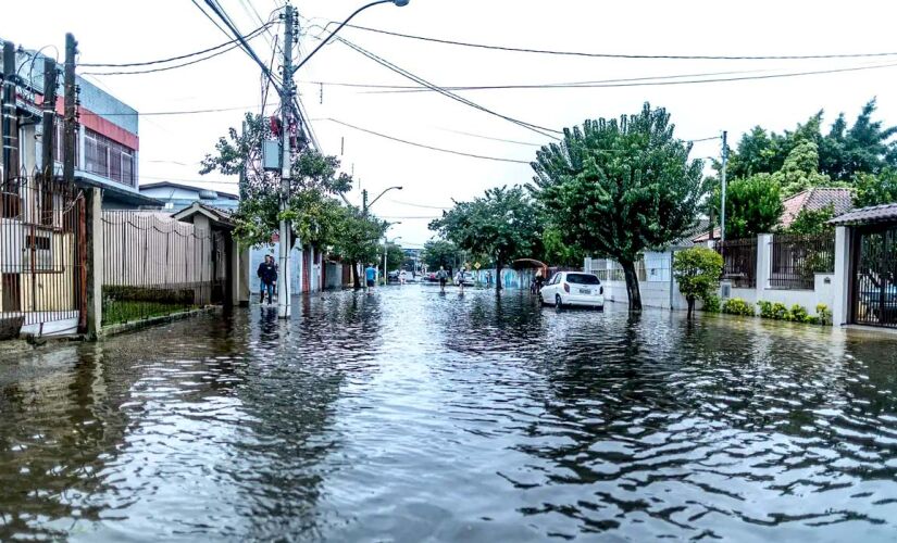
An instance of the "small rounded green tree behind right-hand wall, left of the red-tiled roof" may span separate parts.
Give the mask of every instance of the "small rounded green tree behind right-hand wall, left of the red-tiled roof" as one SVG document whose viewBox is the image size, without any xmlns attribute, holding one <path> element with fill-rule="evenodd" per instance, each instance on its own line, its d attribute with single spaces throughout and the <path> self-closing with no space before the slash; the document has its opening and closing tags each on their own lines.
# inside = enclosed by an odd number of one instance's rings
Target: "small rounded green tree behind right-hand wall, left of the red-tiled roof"
<svg viewBox="0 0 897 543">
<path fill-rule="evenodd" d="M 771 232 L 785 211 L 780 184 L 770 174 L 757 174 L 732 181 L 726 189 L 725 200 L 726 239 Z"/>
</svg>

